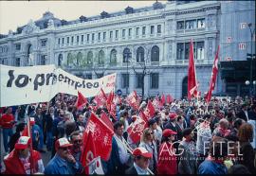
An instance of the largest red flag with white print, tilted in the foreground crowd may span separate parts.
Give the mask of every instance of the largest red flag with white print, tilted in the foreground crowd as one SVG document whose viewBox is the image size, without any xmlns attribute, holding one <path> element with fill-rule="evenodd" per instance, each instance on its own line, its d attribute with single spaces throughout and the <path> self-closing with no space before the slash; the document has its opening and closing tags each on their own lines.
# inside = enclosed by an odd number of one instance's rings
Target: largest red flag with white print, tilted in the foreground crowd
<svg viewBox="0 0 256 176">
<path fill-rule="evenodd" d="M 93 113 L 88 120 L 85 132 L 92 132 L 96 155 L 107 161 L 112 150 L 114 132 Z"/>
</svg>

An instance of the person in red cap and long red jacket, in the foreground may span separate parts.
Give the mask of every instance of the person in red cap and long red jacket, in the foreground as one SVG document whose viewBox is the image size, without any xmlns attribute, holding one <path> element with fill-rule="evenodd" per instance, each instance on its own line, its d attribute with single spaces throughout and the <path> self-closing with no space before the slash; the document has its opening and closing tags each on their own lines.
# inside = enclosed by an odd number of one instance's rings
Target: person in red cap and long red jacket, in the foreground
<svg viewBox="0 0 256 176">
<path fill-rule="evenodd" d="M 162 144 L 159 149 L 157 174 L 177 174 L 177 158 L 173 146 L 177 132 L 170 129 L 163 131 Z"/>
</svg>

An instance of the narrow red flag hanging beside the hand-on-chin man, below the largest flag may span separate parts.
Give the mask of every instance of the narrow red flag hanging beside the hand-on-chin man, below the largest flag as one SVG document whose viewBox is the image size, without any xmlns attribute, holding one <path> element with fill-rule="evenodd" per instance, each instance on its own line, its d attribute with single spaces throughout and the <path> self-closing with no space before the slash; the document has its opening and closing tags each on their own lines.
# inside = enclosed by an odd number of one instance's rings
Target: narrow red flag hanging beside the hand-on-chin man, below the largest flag
<svg viewBox="0 0 256 176">
<path fill-rule="evenodd" d="M 88 164 L 96 158 L 95 144 L 92 132 L 83 132 L 83 145 L 81 154 L 82 167 L 85 167 L 85 174 L 89 173 Z"/>
</svg>

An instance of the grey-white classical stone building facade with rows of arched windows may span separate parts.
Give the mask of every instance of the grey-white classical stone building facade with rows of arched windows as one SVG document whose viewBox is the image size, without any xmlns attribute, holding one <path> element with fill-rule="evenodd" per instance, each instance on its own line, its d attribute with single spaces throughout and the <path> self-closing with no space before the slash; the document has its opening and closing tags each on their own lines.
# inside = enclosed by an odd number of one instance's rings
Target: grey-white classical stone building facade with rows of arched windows
<svg viewBox="0 0 256 176">
<path fill-rule="evenodd" d="M 84 79 L 117 73 L 116 88 L 123 94 L 133 90 L 141 94 L 144 73 L 145 96 L 164 93 L 180 98 L 187 95 L 192 39 L 196 77 L 204 93 L 217 45 L 225 43 L 221 34 L 225 25 L 221 7 L 225 3 L 156 2 L 152 7 L 102 11 L 98 16 L 68 22 L 46 11 L 38 21 L 1 35 L 0 62 L 14 66 L 56 64 Z M 224 55 L 229 53 L 222 51 L 221 58 Z M 225 92 L 225 86 L 219 76 L 215 92 Z"/>
</svg>

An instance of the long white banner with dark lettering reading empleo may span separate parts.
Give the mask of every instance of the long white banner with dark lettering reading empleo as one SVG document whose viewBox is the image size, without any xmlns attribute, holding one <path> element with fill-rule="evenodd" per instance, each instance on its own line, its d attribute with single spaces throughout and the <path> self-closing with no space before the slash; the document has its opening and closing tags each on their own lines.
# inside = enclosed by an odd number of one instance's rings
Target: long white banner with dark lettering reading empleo
<svg viewBox="0 0 256 176">
<path fill-rule="evenodd" d="M 115 91 L 116 74 L 81 79 L 55 65 L 14 67 L 0 64 L 0 107 L 49 101 L 58 93 L 95 97 Z"/>
</svg>

